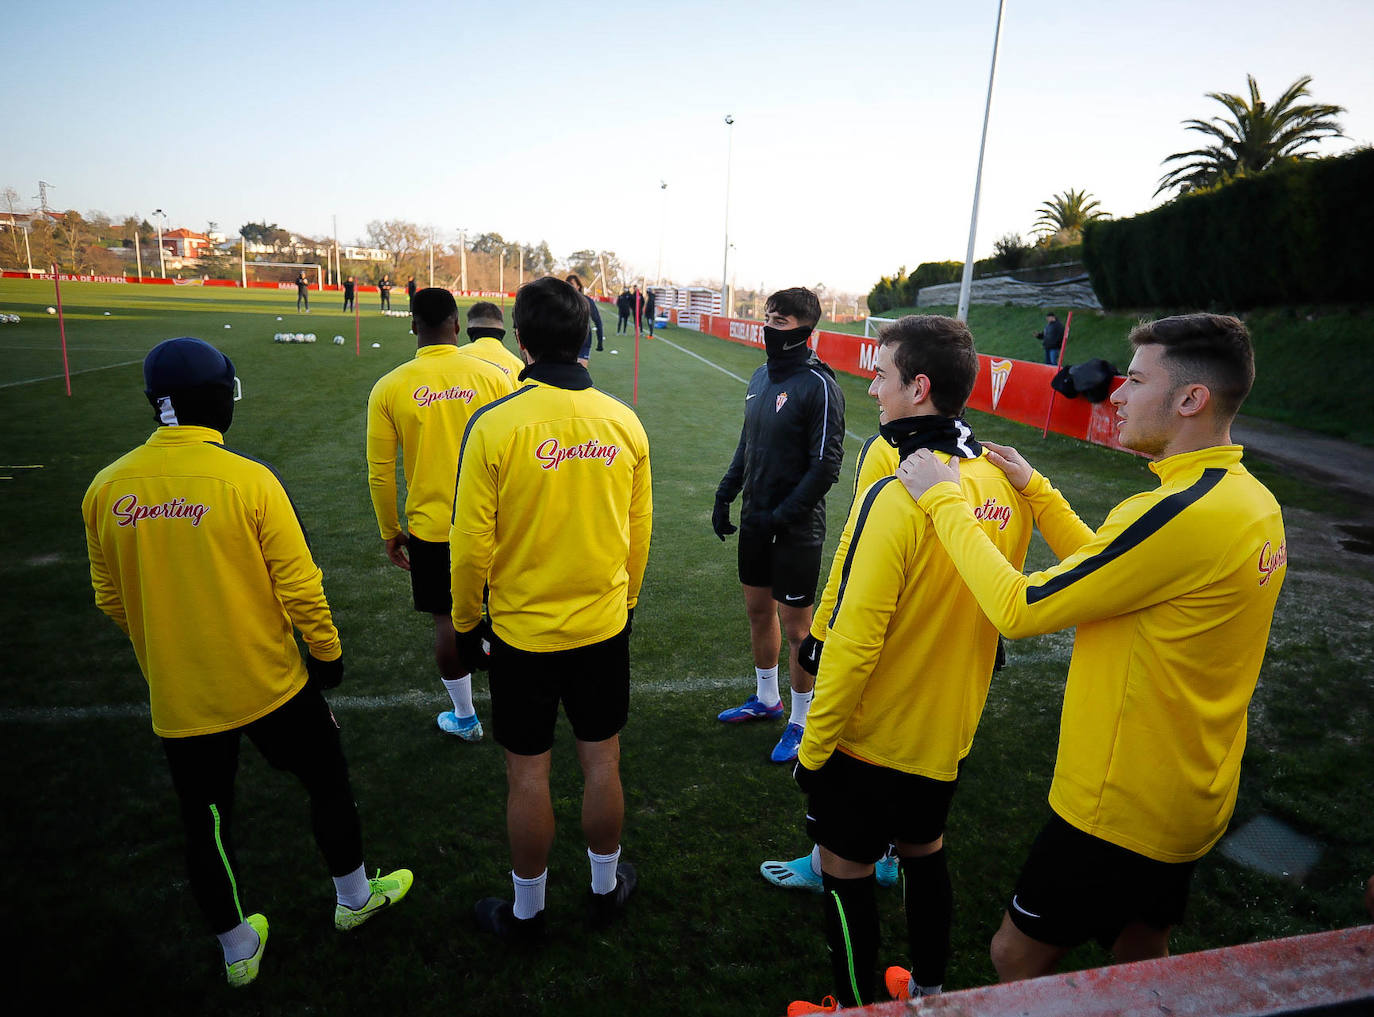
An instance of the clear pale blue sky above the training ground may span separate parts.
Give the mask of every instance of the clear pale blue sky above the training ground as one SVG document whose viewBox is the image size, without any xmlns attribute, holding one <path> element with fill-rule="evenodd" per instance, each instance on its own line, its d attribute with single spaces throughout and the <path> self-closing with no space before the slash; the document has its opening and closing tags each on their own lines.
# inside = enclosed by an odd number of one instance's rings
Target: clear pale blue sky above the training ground
<svg viewBox="0 0 1374 1017">
<path fill-rule="evenodd" d="M 407 219 L 867 291 L 962 260 L 996 0 L 22 4 L 4 18 L 0 187 L 82 213 L 344 242 Z M 1374 142 L 1374 3 L 1007 0 L 977 256 L 1069 187 L 1127 216 L 1206 92 L 1312 76 Z M 660 188 L 660 181 L 668 190 Z"/>
</svg>

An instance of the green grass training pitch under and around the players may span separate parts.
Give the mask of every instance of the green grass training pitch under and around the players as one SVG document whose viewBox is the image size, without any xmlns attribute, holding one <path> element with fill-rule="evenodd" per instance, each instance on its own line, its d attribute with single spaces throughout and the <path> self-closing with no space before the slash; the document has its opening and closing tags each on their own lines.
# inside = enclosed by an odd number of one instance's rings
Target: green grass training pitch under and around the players
<svg viewBox="0 0 1374 1017">
<path fill-rule="evenodd" d="M 383 317 L 375 298 L 364 300 L 354 356 L 353 317 L 334 313 L 335 294 L 297 317 L 294 291 L 66 284 L 76 372 L 67 399 L 56 319 L 44 312 L 51 293 L 49 283 L 0 282 L 0 309 L 23 317 L 0 326 L 0 844 L 16 933 L 11 958 L 26 984 L 52 999 L 100 998 L 115 1012 L 264 1014 L 775 1014 L 789 999 L 834 988 L 819 900 L 758 875 L 761 860 L 808 848 L 802 800 L 787 770 L 767 761 L 779 726 L 714 720 L 752 691 L 753 679 L 734 541 L 721 544 L 709 525 L 738 440 L 743 386 L 712 364 L 747 377 L 757 350 L 676 328 L 642 346 L 639 412 L 653 448 L 655 525 L 624 734 L 624 845 L 640 869 L 640 891 L 622 925 L 583 930 L 581 783 L 563 727 L 554 750 L 554 939 L 543 954 L 521 958 L 481 937 L 471 919 L 478 897 L 510 892 L 502 753 L 489 739 L 460 745 L 436 730 L 445 697 L 430 623 L 411 610 L 407 577 L 385 558 L 367 495 L 365 399 L 381 374 L 411 356 L 407 320 Z M 315 331 L 319 341 L 273 345 L 272 334 L 287 328 Z M 335 933 L 305 798 L 245 749 L 240 892 L 246 908 L 272 922 L 262 976 L 245 992 L 225 987 L 188 893 L 146 689 L 128 642 L 93 607 L 80 521 L 95 471 L 153 430 L 143 355 L 187 334 L 234 359 L 245 394 L 227 440 L 278 467 L 324 569 L 348 662 L 331 702 L 367 863 L 404 864 L 416 875 L 394 914 Z M 346 337 L 344 348 L 328 342 L 335 334 Z M 594 353 L 594 377 L 628 400 L 633 338 L 607 335 L 606 348 Z M 849 430 L 872 433 L 866 383 L 842 377 L 841 386 Z M 1041 440 L 991 416 L 976 415 L 973 425 L 1018 445 L 1090 522 L 1153 482 L 1131 456 Z M 846 469 L 829 500 L 831 548 L 856 451 L 857 441 L 846 441 Z M 1173 939 L 1179 952 L 1367 921 L 1359 897 L 1374 871 L 1374 568 L 1340 544 L 1334 524 L 1351 521 L 1345 508 L 1263 465 L 1253 469 L 1285 503 L 1290 559 L 1252 708 L 1237 823 L 1276 815 L 1325 853 L 1305 885 L 1209 855 Z M 1048 561 L 1037 539 L 1030 563 Z M 951 990 L 993 979 L 988 940 L 1047 814 L 1070 645 L 1068 632 L 1011 643 L 1010 667 L 993 682 L 949 819 Z M 485 680 L 475 686 L 478 711 L 489 716 Z M 879 902 L 881 961 L 899 962 L 899 895 L 882 891 Z M 1105 959 L 1084 947 L 1069 962 Z"/>
</svg>

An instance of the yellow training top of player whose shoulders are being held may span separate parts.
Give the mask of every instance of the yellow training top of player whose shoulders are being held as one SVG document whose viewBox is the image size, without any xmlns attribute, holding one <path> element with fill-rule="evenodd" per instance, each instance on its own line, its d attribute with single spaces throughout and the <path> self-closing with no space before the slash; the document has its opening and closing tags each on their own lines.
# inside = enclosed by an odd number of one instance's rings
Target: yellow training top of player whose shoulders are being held
<svg viewBox="0 0 1374 1017">
<path fill-rule="evenodd" d="M 963 460 L 959 478 L 956 496 L 982 519 L 980 532 L 1020 569 L 1033 528 L 1030 506 L 987 456 Z M 881 767 L 952 781 L 988 698 L 998 631 L 896 477 L 855 502 L 840 546 L 826 584 L 835 590 L 835 606 L 824 623 L 798 759 L 816 770 L 838 748 Z"/>
</svg>

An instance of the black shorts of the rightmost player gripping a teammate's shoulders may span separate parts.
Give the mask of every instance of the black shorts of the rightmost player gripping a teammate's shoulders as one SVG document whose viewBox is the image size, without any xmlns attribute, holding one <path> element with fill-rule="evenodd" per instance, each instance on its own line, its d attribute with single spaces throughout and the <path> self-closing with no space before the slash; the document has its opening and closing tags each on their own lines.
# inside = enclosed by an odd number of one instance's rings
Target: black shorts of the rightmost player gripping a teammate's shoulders
<svg viewBox="0 0 1374 1017">
<path fill-rule="evenodd" d="M 1007 902 L 1030 939 L 1112 948 L 1127 925 L 1167 929 L 1183 921 L 1197 862 L 1157 862 L 1070 826 L 1058 815 L 1041 827 Z"/>
</svg>

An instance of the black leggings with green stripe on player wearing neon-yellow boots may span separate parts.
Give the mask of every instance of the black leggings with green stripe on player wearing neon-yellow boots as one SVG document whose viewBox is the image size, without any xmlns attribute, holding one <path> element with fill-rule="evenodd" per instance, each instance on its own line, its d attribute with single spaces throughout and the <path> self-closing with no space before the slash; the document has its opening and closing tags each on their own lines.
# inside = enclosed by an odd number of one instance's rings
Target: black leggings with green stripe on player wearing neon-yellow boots
<svg viewBox="0 0 1374 1017">
<path fill-rule="evenodd" d="M 243 921 L 234 858 L 234 775 L 246 734 L 278 770 L 295 774 L 311 797 L 311 826 L 330 875 L 363 864 L 363 830 L 348 779 L 339 728 L 317 689 L 305 687 L 245 727 L 191 738 L 164 738 L 172 786 L 181 803 L 191 892 L 210 930 Z"/>
</svg>

